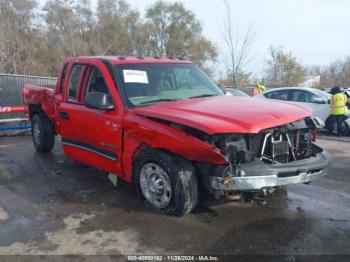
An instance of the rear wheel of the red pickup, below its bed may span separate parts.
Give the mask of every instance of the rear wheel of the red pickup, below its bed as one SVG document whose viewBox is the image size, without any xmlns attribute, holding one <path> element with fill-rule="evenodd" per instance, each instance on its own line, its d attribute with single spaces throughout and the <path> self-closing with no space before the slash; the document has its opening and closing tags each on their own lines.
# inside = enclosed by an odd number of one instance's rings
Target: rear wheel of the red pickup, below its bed
<svg viewBox="0 0 350 262">
<path fill-rule="evenodd" d="M 51 152 L 55 144 L 55 132 L 51 121 L 42 113 L 32 117 L 33 144 L 39 153 Z"/>
</svg>

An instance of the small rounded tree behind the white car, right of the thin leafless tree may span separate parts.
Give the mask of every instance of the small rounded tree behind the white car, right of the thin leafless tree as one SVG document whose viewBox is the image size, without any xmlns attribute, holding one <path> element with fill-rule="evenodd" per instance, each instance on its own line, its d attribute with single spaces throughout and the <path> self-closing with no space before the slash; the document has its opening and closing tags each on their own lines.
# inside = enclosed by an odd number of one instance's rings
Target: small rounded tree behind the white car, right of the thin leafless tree
<svg viewBox="0 0 350 262">
<path fill-rule="evenodd" d="M 292 52 L 270 46 L 268 54 L 265 69 L 267 86 L 298 86 L 305 81 L 306 69 Z"/>
</svg>

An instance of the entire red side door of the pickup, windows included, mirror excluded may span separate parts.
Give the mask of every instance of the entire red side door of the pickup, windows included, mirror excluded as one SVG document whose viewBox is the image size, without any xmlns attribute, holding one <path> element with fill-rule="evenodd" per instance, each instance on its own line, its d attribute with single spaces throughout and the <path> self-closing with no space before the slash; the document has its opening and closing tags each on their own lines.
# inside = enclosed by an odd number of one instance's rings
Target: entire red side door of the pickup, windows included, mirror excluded
<svg viewBox="0 0 350 262">
<path fill-rule="evenodd" d="M 115 100 L 114 83 L 103 63 L 74 64 L 66 101 L 59 106 L 65 153 L 90 166 L 121 175 L 122 110 Z M 97 86 L 97 82 L 99 83 Z M 116 105 L 113 110 L 87 108 L 89 92 L 104 92 Z"/>
</svg>

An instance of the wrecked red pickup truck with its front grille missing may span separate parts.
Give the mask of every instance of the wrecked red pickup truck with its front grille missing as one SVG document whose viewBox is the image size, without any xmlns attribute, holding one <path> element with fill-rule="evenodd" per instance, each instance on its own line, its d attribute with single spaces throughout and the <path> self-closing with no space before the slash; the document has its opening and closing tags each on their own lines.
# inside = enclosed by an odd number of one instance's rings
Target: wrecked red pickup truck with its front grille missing
<svg viewBox="0 0 350 262">
<path fill-rule="evenodd" d="M 190 61 L 67 59 L 56 89 L 25 86 L 38 152 L 60 135 L 67 156 L 134 183 L 141 198 L 183 215 L 199 188 L 230 194 L 327 174 L 308 108 L 230 97 Z"/>
</svg>

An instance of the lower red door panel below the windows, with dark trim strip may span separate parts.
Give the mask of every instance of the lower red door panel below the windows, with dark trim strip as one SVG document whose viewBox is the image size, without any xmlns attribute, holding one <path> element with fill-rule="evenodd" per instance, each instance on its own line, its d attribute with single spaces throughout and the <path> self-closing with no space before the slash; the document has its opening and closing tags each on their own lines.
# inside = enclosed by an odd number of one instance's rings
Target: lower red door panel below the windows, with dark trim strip
<svg viewBox="0 0 350 262">
<path fill-rule="evenodd" d="M 121 175 L 122 128 L 116 115 L 83 105 L 64 105 L 63 108 L 69 114 L 67 126 L 70 126 L 62 128 L 66 130 L 62 135 L 66 154 L 88 165 Z"/>
</svg>

